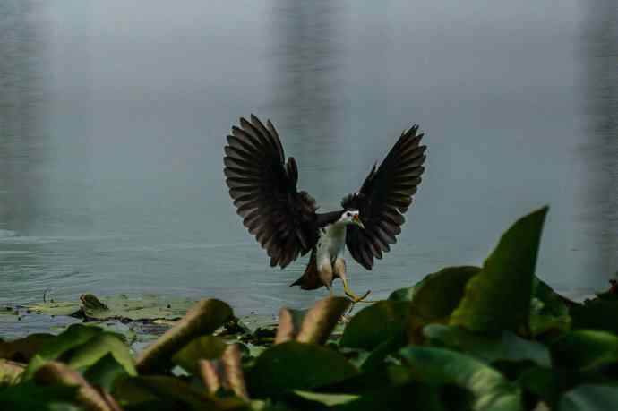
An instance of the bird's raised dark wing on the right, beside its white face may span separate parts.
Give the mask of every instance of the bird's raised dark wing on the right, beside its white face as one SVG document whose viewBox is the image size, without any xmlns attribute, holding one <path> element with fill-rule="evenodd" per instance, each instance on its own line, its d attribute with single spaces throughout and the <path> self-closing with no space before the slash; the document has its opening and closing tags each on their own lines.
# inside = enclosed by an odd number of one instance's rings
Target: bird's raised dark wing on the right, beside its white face
<svg viewBox="0 0 618 411">
<path fill-rule="evenodd" d="M 348 226 L 346 245 L 352 257 L 365 269 L 371 270 L 373 258 L 382 258 L 397 243 L 396 235 L 406 220 L 403 213 L 412 203 L 425 168 L 425 146 L 420 145 L 424 134 L 414 125 L 401 133 L 399 140 L 384 158 L 380 167 L 373 166 L 357 193 L 341 201 L 346 210 L 359 210 L 365 229 Z"/>
</svg>

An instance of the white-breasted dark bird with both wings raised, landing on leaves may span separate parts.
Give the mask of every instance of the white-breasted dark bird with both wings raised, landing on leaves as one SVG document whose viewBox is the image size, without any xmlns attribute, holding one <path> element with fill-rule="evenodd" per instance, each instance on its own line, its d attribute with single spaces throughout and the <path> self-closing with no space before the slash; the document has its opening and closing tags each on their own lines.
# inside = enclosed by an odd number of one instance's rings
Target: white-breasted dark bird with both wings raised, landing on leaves
<svg viewBox="0 0 618 411">
<path fill-rule="evenodd" d="M 284 269 L 311 253 L 303 275 L 290 286 L 326 287 L 332 295 L 332 283 L 340 278 L 345 295 L 356 303 L 370 291 L 358 296 L 350 289 L 344 251 L 372 270 L 374 259 L 382 259 L 397 243 L 425 171 L 424 135 L 416 124 L 404 130 L 360 188 L 343 197 L 341 208 L 324 213 L 317 212 L 309 193 L 297 188 L 296 159 L 286 159 L 270 120 L 263 124 L 252 114 L 232 126 L 223 172 L 236 213 L 266 250 L 271 267 Z"/>
</svg>

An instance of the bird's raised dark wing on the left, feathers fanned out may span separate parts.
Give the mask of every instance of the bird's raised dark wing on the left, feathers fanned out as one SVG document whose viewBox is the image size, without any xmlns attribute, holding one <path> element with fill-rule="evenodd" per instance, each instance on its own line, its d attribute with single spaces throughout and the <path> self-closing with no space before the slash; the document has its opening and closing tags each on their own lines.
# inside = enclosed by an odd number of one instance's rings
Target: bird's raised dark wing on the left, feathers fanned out
<svg viewBox="0 0 618 411">
<path fill-rule="evenodd" d="M 286 267 L 317 242 L 315 200 L 296 190 L 298 168 L 285 162 L 275 127 L 251 115 L 232 127 L 225 147 L 229 195 L 243 224 L 270 256 L 270 266 Z"/>
</svg>

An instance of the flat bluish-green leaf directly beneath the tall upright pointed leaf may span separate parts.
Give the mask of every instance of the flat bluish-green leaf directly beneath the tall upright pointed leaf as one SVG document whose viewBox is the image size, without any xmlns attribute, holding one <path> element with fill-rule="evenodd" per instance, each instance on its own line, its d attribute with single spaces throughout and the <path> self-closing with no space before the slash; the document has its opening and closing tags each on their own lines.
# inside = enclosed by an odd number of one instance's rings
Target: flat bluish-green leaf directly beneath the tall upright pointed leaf
<svg viewBox="0 0 618 411">
<path fill-rule="evenodd" d="M 433 344 L 456 348 L 488 363 L 533 361 L 542 366 L 550 366 L 551 363 L 547 347 L 536 341 L 520 338 L 508 330 L 497 336 L 490 336 L 455 326 L 430 324 L 425 326 L 423 333 Z"/>
</svg>

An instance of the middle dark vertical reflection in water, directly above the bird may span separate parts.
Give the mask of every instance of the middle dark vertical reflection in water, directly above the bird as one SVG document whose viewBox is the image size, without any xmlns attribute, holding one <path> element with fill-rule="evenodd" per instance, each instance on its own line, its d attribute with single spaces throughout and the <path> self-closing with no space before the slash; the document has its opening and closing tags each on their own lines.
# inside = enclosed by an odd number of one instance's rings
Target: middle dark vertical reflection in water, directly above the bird
<svg viewBox="0 0 618 411">
<path fill-rule="evenodd" d="M 332 187 L 312 173 L 334 162 L 330 148 L 338 135 L 338 13 L 339 5 L 328 0 L 274 2 L 271 111 L 287 132 L 284 145 L 299 159 L 305 182 L 314 183 L 316 197 L 328 196 Z"/>
</svg>

